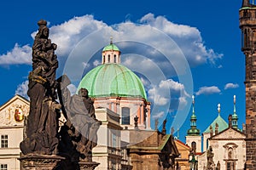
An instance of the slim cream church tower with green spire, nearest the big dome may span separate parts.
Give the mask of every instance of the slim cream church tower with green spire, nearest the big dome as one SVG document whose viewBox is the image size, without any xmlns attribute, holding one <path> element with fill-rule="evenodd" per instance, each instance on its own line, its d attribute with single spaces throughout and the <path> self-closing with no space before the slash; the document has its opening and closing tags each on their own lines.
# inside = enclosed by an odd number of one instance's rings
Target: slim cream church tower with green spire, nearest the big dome
<svg viewBox="0 0 256 170">
<path fill-rule="evenodd" d="M 194 152 L 201 152 L 201 135 L 200 130 L 196 128 L 196 116 L 195 116 L 195 96 L 192 96 L 192 116 L 190 117 L 190 128 L 186 136 L 186 144 L 191 147 Z"/>
</svg>

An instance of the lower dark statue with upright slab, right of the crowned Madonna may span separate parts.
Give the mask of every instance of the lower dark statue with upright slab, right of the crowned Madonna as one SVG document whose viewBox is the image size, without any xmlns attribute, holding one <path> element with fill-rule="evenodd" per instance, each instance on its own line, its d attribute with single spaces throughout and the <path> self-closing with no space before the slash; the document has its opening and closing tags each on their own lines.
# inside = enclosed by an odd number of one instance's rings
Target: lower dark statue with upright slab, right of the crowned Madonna
<svg viewBox="0 0 256 170">
<path fill-rule="evenodd" d="M 71 161 L 91 161 L 91 151 L 97 144 L 97 130 L 102 122 L 96 119 L 93 100 L 88 90 L 81 88 L 78 94 L 71 96 L 66 75 L 58 79 L 58 94 L 67 122 L 61 127 L 60 153 Z"/>
</svg>

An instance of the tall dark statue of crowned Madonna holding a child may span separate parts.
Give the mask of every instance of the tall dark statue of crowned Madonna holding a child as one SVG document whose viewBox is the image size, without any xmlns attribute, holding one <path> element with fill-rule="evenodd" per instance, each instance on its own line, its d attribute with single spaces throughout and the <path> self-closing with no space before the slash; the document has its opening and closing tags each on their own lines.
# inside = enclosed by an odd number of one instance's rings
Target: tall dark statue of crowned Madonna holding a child
<svg viewBox="0 0 256 170">
<path fill-rule="evenodd" d="M 32 71 L 28 77 L 30 111 L 26 124 L 26 139 L 20 143 L 20 150 L 24 155 L 55 155 L 59 141 L 57 130 L 61 109 L 61 105 L 55 101 L 57 46 L 49 39 L 47 22 L 39 20 L 38 26 L 32 46 Z"/>
</svg>

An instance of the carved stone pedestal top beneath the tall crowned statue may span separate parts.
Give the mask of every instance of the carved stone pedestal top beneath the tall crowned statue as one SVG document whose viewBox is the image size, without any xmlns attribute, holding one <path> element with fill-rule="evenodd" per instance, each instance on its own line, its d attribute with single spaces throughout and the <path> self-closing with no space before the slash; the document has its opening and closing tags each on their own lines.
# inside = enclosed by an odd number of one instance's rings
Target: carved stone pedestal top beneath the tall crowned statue
<svg viewBox="0 0 256 170">
<path fill-rule="evenodd" d="M 64 160 L 61 156 L 42 156 L 29 154 L 19 158 L 21 170 L 52 170 L 59 161 Z"/>
</svg>

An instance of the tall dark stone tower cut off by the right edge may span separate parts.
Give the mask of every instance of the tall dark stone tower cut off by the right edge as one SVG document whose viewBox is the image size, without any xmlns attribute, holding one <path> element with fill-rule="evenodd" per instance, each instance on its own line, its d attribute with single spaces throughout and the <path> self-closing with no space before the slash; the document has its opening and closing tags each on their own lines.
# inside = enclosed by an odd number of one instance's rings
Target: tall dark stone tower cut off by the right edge
<svg viewBox="0 0 256 170">
<path fill-rule="evenodd" d="M 246 63 L 246 169 L 256 169 L 256 5 L 243 0 L 239 21 Z"/>
</svg>

